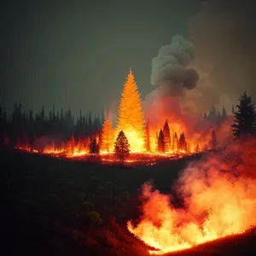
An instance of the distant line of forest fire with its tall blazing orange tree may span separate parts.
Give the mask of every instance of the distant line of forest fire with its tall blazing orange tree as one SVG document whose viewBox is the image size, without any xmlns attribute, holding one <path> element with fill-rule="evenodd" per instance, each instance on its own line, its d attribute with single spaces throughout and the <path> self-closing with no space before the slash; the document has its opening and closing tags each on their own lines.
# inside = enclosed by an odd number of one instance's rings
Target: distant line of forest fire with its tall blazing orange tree
<svg viewBox="0 0 256 256">
<path fill-rule="evenodd" d="M 196 136 L 193 137 L 185 137 L 184 131 L 188 131 L 188 127 L 182 121 L 170 116 L 163 116 L 163 124 L 151 125 L 149 119 L 145 124 L 142 102 L 131 70 L 125 82 L 118 113 L 116 128 L 113 128 L 109 113 L 107 113 L 102 130 L 95 136 L 75 139 L 72 134 L 67 143 L 52 141 L 46 145 L 39 143 L 40 138 L 34 138 L 31 146 L 28 137 L 23 134 L 22 143 L 17 139 L 15 148 L 53 156 L 63 155 L 69 158 L 87 154 L 113 154 L 119 131 L 124 132 L 130 145 L 130 152 L 134 155 L 136 153 L 148 156 L 153 154 L 156 157 L 183 155 L 216 148 L 214 130 L 209 131 L 207 136 L 195 134 Z M 168 119 L 171 120 L 170 127 Z M 133 160 L 136 160 L 135 158 Z"/>
</svg>

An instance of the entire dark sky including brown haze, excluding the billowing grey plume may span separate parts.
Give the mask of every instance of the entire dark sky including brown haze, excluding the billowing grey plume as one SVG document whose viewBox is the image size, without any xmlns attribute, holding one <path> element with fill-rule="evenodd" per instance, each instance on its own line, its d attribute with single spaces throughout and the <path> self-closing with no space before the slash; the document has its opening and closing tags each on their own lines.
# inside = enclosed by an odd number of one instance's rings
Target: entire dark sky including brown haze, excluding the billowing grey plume
<svg viewBox="0 0 256 256">
<path fill-rule="evenodd" d="M 181 34 L 195 44 L 197 110 L 231 109 L 256 85 L 255 0 L 8 1 L 1 6 L 1 94 L 38 110 L 115 111 L 131 67 L 144 99 L 151 61 Z M 256 100 L 256 88 L 254 89 Z M 193 105 L 192 104 L 192 105 Z"/>
</svg>

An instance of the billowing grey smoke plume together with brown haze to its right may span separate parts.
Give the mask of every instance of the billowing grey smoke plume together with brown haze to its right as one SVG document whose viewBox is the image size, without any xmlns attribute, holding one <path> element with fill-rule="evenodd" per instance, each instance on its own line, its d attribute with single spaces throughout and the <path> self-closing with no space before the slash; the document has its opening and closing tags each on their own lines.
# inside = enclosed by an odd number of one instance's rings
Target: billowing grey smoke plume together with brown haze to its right
<svg viewBox="0 0 256 256">
<path fill-rule="evenodd" d="M 255 10 L 253 0 L 204 3 L 189 20 L 189 40 L 175 36 L 154 57 L 151 84 L 155 87 L 145 99 L 146 112 L 173 96 L 194 116 L 207 112 L 212 104 L 219 109 L 224 104 L 230 114 L 244 90 L 255 102 Z"/>
</svg>

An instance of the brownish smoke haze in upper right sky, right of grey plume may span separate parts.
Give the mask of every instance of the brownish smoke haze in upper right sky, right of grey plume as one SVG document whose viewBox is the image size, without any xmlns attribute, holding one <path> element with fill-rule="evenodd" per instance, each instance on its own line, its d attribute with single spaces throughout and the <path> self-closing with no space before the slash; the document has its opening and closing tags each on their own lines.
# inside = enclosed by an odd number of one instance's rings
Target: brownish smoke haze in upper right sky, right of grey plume
<svg viewBox="0 0 256 256">
<path fill-rule="evenodd" d="M 202 110 L 211 103 L 230 110 L 244 90 L 256 100 L 255 10 L 253 0 L 209 0 L 189 22 L 193 67 L 201 78 L 188 96 L 197 95 Z"/>
</svg>

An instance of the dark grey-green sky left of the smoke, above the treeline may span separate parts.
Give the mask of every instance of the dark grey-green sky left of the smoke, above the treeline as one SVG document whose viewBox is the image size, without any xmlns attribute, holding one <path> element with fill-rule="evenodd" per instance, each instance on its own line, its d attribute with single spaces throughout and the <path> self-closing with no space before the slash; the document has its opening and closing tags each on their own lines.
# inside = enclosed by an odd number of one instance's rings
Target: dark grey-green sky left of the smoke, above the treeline
<svg viewBox="0 0 256 256">
<path fill-rule="evenodd" d="M 131 67 L 142 96 L 151 60 L 187 35 L 202 0 L 9 1 L 1 7 L 1 105 L 75 113 L 116 106 Z"/>
</svg>

